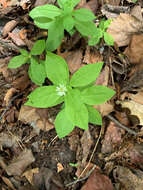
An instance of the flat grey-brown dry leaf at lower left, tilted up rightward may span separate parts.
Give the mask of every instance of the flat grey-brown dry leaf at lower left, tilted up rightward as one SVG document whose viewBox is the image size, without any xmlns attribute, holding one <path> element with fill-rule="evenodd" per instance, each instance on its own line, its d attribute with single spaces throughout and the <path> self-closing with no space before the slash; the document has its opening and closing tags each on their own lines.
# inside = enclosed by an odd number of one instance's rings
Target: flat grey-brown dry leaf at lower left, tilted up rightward
<svg viewBox="0 0 143 190">
<path fill-rule="evenodd" d="M 5 170 L 8 175 L 20 176 L 26 167 L 34 161 L 35 158 L 32 151 L 30 149 L 25 149 L 5 168 Z"/>
</svg>

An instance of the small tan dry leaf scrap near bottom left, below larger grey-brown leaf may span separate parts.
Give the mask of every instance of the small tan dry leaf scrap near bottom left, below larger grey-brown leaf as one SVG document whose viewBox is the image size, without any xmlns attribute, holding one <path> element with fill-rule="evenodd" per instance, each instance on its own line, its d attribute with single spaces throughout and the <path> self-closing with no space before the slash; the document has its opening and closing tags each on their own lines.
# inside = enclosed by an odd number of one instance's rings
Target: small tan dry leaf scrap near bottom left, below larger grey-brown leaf
<svg viewBox="0 0 143 190">
<path fill-rule="evenodd" d="M 29 181 L 31 185 L 33 185 L 33 175 L 39 173 L 39 168 L 33 168 L 31 170 L 28 170 L 22 174 L 22 176 L 25 176 L 26 179 Z"/>
</svg>

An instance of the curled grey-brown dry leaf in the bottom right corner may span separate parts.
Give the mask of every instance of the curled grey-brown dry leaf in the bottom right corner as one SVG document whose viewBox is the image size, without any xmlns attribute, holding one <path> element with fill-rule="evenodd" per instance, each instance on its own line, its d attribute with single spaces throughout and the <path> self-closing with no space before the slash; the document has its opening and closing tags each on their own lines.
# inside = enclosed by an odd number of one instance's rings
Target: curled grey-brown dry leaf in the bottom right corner
<svg viewBox="0 0 143 190">
<path fill-rule="evenodd" d="M 120 187 L 124 187 L 124 190 L 142 190 L 143 172 L 135 169 L 132 171 L 126 167 L 116 166 L 113 170 L 114 179 L 121 184 Z"/>
</svg>

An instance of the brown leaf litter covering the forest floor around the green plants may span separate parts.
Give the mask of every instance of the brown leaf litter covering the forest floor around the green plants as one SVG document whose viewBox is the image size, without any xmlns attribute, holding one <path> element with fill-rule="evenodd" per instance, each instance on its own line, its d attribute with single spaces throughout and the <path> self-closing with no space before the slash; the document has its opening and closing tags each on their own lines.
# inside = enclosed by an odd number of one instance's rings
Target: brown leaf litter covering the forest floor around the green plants
<svg viewBox="0 0 143 190">
<path fill-rule="evenodd" d="M 38 109 L 23 105 L 27 95 L 36 88 L 27 75 L 28 66 L 15 70 L 7 67 L 9 59 L 17 55 L 21 47 L 31 49 L 37 38 L 45 38 L 43 30 L 39 31 L 26 16 L 30 7 L 39 6 L 39 1 L 0 2 L 1 18 L 8 18 L 5 25 L 0 23 L 1 115 L 4 112 L 0 123 L 0 188 L 141 190 L 142 1 L 83 0 L 76 7 L 92 10 L 99 20 L 112 18 L 107 31 L 115 45 L 109 47 L 101 41 L 89 47 L 78 33 L 72 37 L 66 34 L 59 53 L 66 59 L 71 75 L 83 65 L 103 61 L 104 68 L 96 85 L 110 86 L 117 95 L 94 106 L 103 116 L 102 127 L 89 124 L 88 131 L 76 128 L 64 139 L 58 139 L 54 129 L 58 106 Z M 40 5 L 48 3 L 56 1 L 42 1 Z M 123 68 L 121 72 L 117 71 L 117 62 Z M 45 82 L 50 83 L 47 79 Z M 116 120 L 110 121 L 107 115 Z M 117 121 L 138 135 L 121 129 Z M 78 164 L 72 167 L 70 163 Z"/>
</svg>

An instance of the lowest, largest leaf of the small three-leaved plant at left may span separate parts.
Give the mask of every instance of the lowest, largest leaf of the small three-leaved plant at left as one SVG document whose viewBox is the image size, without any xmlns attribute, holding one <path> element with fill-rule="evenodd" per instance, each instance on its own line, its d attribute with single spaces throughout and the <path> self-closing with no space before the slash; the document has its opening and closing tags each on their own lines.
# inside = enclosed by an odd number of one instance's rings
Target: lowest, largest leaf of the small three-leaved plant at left
<svg viewBox="0 0 143 190">
<path fill-rule="evenodd" d="M 30 76 L 30 79 L 35 84 L 41 86 L 46 78 L 46 72 L 45 67 L 43 63 L 38 63 L 36 58 L 31 57 L 31 64 L 29 67 L 28 74 Z"/>
</svg>

